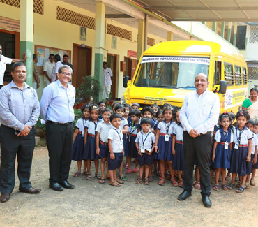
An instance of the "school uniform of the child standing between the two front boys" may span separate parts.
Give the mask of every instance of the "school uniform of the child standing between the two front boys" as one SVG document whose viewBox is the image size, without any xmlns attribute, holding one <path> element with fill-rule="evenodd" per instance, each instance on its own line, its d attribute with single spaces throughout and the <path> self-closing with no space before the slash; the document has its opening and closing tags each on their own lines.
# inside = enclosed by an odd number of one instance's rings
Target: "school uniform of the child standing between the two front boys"
<svg viewBox="0 0 258 227">
<path fill-rule="evenodd" d="M 139 123 L 135 124 L 135 122 L 130 122 L 130 124 L 128 125 L 128 156 L 130 156 L 131 158 L 136 158 L 138 154 L 135 146 L 135 139 L 138 133 L 138 125 Z"/>
</svg>

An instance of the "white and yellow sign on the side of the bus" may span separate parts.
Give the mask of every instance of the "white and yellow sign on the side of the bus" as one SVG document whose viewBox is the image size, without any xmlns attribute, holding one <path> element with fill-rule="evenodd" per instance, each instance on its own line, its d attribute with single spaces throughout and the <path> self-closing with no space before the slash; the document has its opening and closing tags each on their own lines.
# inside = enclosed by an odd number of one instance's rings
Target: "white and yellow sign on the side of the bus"
<svg viewBox="0 0 258 227">
<path fill-rule="evenodd" d="M 242 105 L 245 98 L 248 97 L 248 88 L 228 89 L 225 94 L 225 110 L 236 105 Z"/>
</svg>

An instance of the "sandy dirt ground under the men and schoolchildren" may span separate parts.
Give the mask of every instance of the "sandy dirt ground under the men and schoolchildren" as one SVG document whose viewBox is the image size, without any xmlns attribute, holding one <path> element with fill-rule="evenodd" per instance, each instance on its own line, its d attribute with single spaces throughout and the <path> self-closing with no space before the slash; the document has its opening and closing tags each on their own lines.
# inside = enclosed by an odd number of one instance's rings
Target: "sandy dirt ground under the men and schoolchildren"
<svg viewBox="0 0 258 227">
<path fill-rule="evenodd" d="M 212 190 L 213 206 L 206 208 L 200 191 L 194 189 L 192 197 L 180 202 L 177 196 L 182 189 L 168 180 L 159 186 L 158 177 L 149 186 L 137 185 L 137 174 L 132 173 L 116 188 L 108 182 L 99 184 L 95 177 L 92 181 L 82 175 L 75 178 L 76 170 L 73 161 L 69 182 L 75 189 L 49 189 L 47 148 L 36 147 L 31 183 L 42 191 L 20 193 L 16 178 L 10 200 L 0 204 L 0 226 L 258 226 L 258 186 L 243 194 Z"/>
</svg>

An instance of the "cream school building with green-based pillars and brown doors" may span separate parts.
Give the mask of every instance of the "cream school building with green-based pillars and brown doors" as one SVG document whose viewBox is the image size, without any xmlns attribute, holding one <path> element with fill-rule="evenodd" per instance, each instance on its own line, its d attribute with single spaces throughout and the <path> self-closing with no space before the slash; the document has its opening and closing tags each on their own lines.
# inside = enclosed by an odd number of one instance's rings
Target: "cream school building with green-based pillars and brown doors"
<svg viewBox="0 0 258 227">
<path fill-rule="evenodd" d="M 61 59 L 68 54 L 75 69 L 75 87 L 86 75 L 95 75 L 102 83 L 103 61 L 107 61 L 114 74 L 112 98 L 120 98 L 125 91 L 123 76 L 132 78 L 137 60 L 147 48 L 163 41 L 214 41 L 243 54 L 248 61 L 250 87 L 258 85 L 258 24 L 250 22 L 258 21 L 254 13 L 258 3 L 243 1 L 235 6 L 217 2 L 215 6 L 207 1 L 204 6 L 202 1 L 190 0 L 185 6 L 184 1 L 173 2 L 0 0 L 3 55 L 20 59 L 26 52 L 29 85 L 32 54 L 38 55 L 39 98 L 46 85 L 43 64 L 50 53 L 60 54 Z M 5 84 L 10 80 L 8 66 Z"/>
</svg>

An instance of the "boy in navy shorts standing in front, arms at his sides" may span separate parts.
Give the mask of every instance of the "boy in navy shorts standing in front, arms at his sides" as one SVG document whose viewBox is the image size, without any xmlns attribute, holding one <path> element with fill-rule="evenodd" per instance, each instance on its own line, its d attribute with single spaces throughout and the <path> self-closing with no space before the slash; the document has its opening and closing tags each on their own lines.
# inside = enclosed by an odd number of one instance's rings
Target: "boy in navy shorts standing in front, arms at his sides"
<svg viewBox="0 0 258 227">
<path fill-rule="evenodd" d="M 121 163 L 123 161 L 123 133 L 122 130 L 119 129 L 121 125 L 121 115 L 118 113 L 114 113 L 110 116 L 110 122 L 112 124 L 112 128 L 108 134 L 108 171 L 110 182 L 109 184 L 112 186 L 121 186 L 123 181 L 116 177 L 116 169 L 120 168 Z"/>
</svg>

